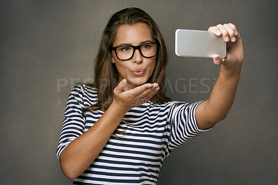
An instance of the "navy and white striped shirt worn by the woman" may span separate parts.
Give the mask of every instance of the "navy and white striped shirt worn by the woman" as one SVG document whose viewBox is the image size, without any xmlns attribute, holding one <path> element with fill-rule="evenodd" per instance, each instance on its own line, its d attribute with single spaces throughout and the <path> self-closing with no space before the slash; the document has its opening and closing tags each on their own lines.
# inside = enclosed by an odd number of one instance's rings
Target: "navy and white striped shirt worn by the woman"
<svg viewBox="0 0 278 185">
<path fill-rule="evenodd" d="M 60 131 L 57 158 L 72 140 L 81 136 L 99 120 L 101 110 L 82 108 L 97 102 L 97 89 L 81 85 L 67 99 Z M 131 108 L 120 122 L 99 156 L 73 184 L 156 184 L 163 161 L 170 152 L 204 131 L 198 129 L 195 110 L 201 102 L 146 102 Z M 77 129 L 76 129 L 77 128 Z"/>
</svg>

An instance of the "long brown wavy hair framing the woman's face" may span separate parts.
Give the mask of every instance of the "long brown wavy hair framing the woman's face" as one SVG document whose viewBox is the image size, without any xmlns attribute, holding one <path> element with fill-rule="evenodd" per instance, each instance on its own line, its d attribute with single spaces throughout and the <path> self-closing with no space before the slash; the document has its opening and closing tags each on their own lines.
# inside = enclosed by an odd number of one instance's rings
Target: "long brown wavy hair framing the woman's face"
<svg viewBox="0 0 278 185">
<path fill-rule="evenodd" d="M 158 42 L 158 54 L 156 56 L 156 66 L 154 72 L 149 77 L 147 83 L 158 83 L 160 89 L 150 99 L 152 102 L 162 104 L 169 102 L 171 99 L 165 95 L 165 69 L 167 66 L 167 50 L 161 32 L 156 22 L 145 11 L 140 8 L 125 8 L 118 11 L 108 21 L 104 32 L 102 33 L 99 51 L 95 58 L 95 88 L 97 88 L 97 103 L 83 108 L 85 111 L 93 111 L 97 108 L 102 111 L 113 102 L 113 90 L 117 86 L 119 72 L 114 63 L 112 63 L 111 46 L 115 40 L 117 28 L 123 24 L 145 23 L 151 30 L 152 37 Z"/>
</svg>

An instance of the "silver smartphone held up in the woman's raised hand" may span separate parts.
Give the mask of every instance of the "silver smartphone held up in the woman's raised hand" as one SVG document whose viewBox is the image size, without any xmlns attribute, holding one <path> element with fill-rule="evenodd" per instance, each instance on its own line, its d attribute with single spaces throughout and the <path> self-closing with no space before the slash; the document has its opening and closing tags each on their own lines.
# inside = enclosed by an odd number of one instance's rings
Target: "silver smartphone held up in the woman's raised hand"
<svg viewBox="0 0 278 185">
<path fill-rule="evenodd" d="M 177 29 L 175 53 L 177 56 L 213 58 L 214 54 L 226 57 L 227 45 L 222 37 L 210 31 Z"/>
</svg>

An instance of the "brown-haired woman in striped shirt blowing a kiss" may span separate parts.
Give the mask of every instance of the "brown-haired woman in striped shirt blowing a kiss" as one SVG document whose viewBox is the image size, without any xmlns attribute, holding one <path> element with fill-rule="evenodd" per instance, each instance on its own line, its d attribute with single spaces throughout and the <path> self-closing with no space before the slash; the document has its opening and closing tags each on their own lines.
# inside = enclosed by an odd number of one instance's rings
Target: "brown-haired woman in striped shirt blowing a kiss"
<svg viewBox="0 0 278 185">
<path fill-rule="evenodd" d="M 167 51 L 154 20 L 126 8 L 109 20 L 95 60 L 95 87 L 70 93 L 57 149 L 74 184 L 156 184 L 164 159 L 223 120 L 236 95 L 244 61 L 234 24 L 209 31 L 227 42 L 227 57 L 207 101 L 170 102 L 164 93 Z M 215 89 L 218 88 L 218 89 Z"/>
</svg>

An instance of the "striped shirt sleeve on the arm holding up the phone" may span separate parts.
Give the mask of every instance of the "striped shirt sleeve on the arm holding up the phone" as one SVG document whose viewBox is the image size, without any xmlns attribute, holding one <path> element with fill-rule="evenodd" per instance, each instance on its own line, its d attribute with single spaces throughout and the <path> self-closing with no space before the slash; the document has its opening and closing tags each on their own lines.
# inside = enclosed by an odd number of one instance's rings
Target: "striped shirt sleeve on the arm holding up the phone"
<svg viewBox="0 0 278 185">
<path fill-rule="evenodd" d="M 196 122 L 196 108 L 202 102 L 204 101 L 193 104 L 172 102 L 169 111 L 170 140 L 168 146 L 170 150 L 174 150 L 208 130 L 199 129 Z"/>
</svg>

